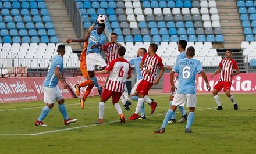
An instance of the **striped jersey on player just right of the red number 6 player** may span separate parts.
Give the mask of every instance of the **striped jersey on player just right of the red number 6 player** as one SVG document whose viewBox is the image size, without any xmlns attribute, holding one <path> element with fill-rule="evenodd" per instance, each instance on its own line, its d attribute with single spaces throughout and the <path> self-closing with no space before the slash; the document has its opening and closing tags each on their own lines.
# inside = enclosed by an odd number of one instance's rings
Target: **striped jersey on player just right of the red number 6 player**
<svg viewBox="0 0 256 154">
<path fill-rule="evenodd" d="M 151 71 L 151 74 L 147 74 L 144 70 L 141 70 L 143 79 L 149 83 L 153 83 L 157 76 L 158 67 L 163 67 L 162 59 L 158 55 L 151 57 L 150 54 L 146 53 L 141 61 L 144 62 L 143 66 Z"/>
</svg>

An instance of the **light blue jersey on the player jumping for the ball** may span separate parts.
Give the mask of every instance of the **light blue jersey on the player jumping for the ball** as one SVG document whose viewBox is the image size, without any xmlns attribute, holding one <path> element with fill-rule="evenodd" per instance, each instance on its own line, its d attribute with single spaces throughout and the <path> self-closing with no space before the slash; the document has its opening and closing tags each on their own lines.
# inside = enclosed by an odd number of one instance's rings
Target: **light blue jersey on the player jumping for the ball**
<svg viewBox="0 0 256 154">
<path fill-rule="evenodd" d="M 90 37 L 88 40 L 88 47 L 87 47 L 86 55 L 88 55 L 91 52 L 101 54 L 101 49 L 99 47 L 91 49 L 91 46 L 93 46 L 97 43 L 103 45 L 105 41 L 106 41 L 106 36 L 103 33 L 97 34 L 97 30 L 91 31 Z"/>
</svg>

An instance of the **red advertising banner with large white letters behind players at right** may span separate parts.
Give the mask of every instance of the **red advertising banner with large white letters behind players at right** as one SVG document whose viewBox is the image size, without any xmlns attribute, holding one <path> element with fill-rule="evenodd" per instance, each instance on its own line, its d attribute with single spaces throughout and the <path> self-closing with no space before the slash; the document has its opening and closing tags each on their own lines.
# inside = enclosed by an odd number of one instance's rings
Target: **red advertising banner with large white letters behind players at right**
<svg viewBox="0 0 256 154">
<path fill-rule="evenodd" d="M 214 85 L 219 80 L 219 74 L 211 77 L 211 73 L 207 73 L 209 84 L 211 85 L 211 91 Z M 231 91 L 232 92 L 256 92 L 256 73 L 241 73 L 233 77 Z M 208 92 L 205 86 L 204 79 L 201 75 L 196 78 L 197 92 Z M 170 92 L 170 75 L 165 73 L 163 75 L 163 92 Z M 223 92 L 223 91 L 221 91 Z"/>
</svg>

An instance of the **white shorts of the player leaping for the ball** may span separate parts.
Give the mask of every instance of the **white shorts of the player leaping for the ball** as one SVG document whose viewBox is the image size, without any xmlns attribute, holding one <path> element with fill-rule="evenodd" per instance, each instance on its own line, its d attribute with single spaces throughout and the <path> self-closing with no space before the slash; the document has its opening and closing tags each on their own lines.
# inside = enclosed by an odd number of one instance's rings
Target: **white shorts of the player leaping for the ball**
<svg viewBox="0 0 256 154">
<path fill-rule="evenodd" d="M 93 71 L 95 69 L 95 65 L 98 65 L 101 67 L 107 66 L 102 56 L 94 52 L 86 55 L 86 65 L 87 65 L 87 71 Z"/>
</svg>

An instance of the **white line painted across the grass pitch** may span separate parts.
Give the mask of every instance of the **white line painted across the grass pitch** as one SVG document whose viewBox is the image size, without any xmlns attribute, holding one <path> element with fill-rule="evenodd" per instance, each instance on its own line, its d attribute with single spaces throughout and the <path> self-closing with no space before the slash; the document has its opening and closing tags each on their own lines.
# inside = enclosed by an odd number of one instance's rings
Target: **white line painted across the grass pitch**
<svg viewBox="0 0 256 154">
<path fill-rule="evenodd" d="M 204 108 L 204 109 L 198 109 L 198 110 L 209 110 L 209 109 L 215 109 L 215 108 L 216 107 Z M 177 112 L 177 113 L 179 113 L 179 112 Z M 156 115 L 147 116 L 147 117 L 156 117 L 156 116 L 163 116 L 163 115 L 165 115 L 165 114 L 156 114 Z M 108 123 L 103 123 L 103 124 L 90 124 L 90 125 L 85 125 L 85 126 L 65 128 L 65 129 L 54 130 L 54 131 L 44 131 L 44 132 L 38 132 L 38 133 L 33 133 L 33 134 L 0 134 L 0 136 L 3 136 L 3 135 L 5 135 L 5 136 L 8 136 L 8 135 L 13 135 L 13 136 L 18 136 L 18 135 L 35 136 L 35 135 L 50 134 L 50 133 L 60 132 L 60 131 L 76 130 L 76 129 L 79 129 L 79 128 L 86 128 L 86 127 L 97 126 L 97 125 L 111 124 L 111 123 L 116 123 L 116 122 L 119 122 L 119 120 L 117 120 L 117 121 L 109 121 Z"/>
</svg>

